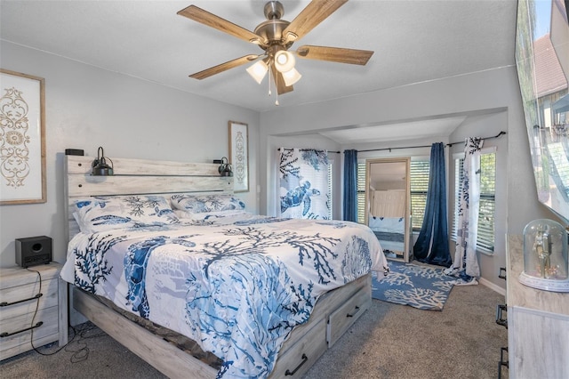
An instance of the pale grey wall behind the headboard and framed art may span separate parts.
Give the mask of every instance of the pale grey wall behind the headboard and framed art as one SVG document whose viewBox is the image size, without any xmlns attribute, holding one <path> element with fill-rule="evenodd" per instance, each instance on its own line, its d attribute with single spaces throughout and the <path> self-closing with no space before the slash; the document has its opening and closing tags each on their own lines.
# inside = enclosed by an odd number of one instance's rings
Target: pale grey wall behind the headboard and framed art
<svg viewBox="0 0 569 379">
<path fill-rule="evenodd" d="M 228 156 L 228 121 L 248 124 L 251 190 L 237 196 L 257 213 L 258 112 L 4 41 L 0 50 L 2 69 L 45 78 L 47 157 L 47 202 L 0 206 L 0 266 L 15 264 L 15 238 L 41 235 L 53 239 L 53 260 L 65 261 L 63 157 L 68 148 L 93 157 L 102 146 L 111 159 L 211 163 Z"/>
</svg>

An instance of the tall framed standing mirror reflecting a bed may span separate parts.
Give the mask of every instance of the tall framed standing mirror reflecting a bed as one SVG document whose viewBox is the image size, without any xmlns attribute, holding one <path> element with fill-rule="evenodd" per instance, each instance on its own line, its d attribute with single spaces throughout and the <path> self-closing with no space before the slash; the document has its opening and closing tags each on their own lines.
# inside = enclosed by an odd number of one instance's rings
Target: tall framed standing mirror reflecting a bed
<svg viewBox="0 0 569 379">
<path fill-rule="evenodd" d="M 409 262 L 410 158 L 365 161 L 365 224 L 390 259 Z"/>
</svg>

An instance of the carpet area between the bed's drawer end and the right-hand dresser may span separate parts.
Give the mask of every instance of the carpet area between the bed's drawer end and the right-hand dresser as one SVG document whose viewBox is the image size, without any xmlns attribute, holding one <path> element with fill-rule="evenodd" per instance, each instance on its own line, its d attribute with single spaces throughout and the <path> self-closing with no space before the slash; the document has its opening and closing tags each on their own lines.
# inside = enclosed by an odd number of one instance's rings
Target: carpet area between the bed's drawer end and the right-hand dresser
<svg viewBox="0 0 569 379">
<path fill-rule="evenodd" d="M 454 286 L 442 311 L 373 300 L 306 378 L 497 378 L 508 345 L 495 320 L 498 303 L 504 297 L 481 285 Z"/>
</svg>

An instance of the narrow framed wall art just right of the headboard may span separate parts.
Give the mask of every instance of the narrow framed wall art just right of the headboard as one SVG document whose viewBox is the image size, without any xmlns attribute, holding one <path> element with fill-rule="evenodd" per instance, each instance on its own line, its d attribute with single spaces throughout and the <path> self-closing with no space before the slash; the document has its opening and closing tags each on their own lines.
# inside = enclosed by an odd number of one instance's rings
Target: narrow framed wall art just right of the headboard
<svg viewBox="0 0 569 379">
<path fill-rule="evenodd" d="M 236 192 L 249 190 L 249 135 L 248 125 L 229 121 L 229 163 L 233 166 L 233 184 Z"/>
</svg>

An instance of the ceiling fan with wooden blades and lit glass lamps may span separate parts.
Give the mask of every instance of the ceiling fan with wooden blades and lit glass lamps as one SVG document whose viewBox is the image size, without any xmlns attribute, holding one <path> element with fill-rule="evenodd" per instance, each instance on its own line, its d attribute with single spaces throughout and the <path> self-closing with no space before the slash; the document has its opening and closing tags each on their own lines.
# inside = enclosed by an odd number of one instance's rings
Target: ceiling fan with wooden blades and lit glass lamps
<svg viewBox="0 0 569 379">
<path fill-rule="evenodd" d="M 269 75 L 273 77 L 276 84 L 276 93 L 281 94 L 292 92 L 293 84 L 301 78 L 300 73 L 294 69 L 295 55 L 311 60 L 365 65 L 372 56 L 372 51 L 305 44 L 296 52 L 289 52 L 296 40 L 309 33 L 346 2 L 348 0 L 312 0 L 293 21 L 289 22 L 281 19 L 284 15 L 283 4 L 278 1 L 269 1 L 264 7 L 267 20 L 261 22 L 253 32 L 204 11 L 196 5 L 189 5 L 178 14 L 244 41 L 257 44 L 263 50 L 260 54 L 244 55 L 210 69 L 196 72 L 189 77 L 201 80 L 257 60 L 247 69 L 247 72 L 260 84 L 269 71 Z"/>
</svg>

